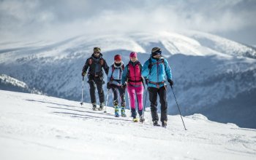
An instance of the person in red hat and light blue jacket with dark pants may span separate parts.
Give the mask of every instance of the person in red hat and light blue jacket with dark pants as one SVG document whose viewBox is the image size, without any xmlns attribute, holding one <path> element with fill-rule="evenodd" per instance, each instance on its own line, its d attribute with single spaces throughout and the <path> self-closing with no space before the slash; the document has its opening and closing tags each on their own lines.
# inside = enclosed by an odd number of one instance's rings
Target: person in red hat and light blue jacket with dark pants
<svg viewBox="0 0 256 160">
<path fill-rule="evenodd" d="M 124 63 L 121 61 L 121 55 L 115 55 L 114 63 L 110 66 L 108 72 L 107 88 L 113 91 L 113 105 L 115 116 L 119 116 L 118 92 L 121 97 L 121 116 L 125 117 L 125 88 L 121 85 L 121 76 L 124 71 Z"/>
</svg>

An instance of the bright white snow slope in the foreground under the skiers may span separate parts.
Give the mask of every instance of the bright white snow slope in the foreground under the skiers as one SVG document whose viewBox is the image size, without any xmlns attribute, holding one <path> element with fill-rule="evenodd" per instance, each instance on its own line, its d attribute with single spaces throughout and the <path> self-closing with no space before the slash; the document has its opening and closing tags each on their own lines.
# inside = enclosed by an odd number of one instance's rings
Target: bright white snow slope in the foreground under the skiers
<svg viewBox="0 0 256 160">
<path fill-rule="evenodd" d="M 256 129 L 168 116 L 167 128 L 91 105 L 0 90 L 0 159 L 255 159 Z M 129 115 L 129 111 L 127 110 Z"/>
</svg>

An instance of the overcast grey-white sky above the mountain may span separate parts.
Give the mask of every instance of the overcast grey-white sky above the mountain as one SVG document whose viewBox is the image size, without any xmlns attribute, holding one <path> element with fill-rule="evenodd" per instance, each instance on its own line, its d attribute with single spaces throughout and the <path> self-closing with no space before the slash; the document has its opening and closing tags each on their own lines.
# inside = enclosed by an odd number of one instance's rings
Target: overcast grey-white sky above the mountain
<svg viewBox="0 0 256 160">
<path fill-rule="evenodd" d="M 176 30 L 256 44 L 256 1 L 0 0 L 1 39 Z"/>
</svg>

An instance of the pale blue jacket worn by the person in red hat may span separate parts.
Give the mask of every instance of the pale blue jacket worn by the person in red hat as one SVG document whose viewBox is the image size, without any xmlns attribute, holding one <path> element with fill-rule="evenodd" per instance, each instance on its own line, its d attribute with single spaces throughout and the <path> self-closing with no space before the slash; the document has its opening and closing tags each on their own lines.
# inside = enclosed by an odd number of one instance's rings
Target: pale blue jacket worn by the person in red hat
<svg viewBox="0 0 256 160">
<path fill-rule="evenodd" d="M 108 82 L 110 82 L 110 84 L 121 86 L 121 76 L 123 74 L 122 65 L 124 65 L 123 62 L 121 62 L 121 65 L 119 66 L 115 65 L 115 63 L 110 66 L 108 71 Z"/>
</svg>

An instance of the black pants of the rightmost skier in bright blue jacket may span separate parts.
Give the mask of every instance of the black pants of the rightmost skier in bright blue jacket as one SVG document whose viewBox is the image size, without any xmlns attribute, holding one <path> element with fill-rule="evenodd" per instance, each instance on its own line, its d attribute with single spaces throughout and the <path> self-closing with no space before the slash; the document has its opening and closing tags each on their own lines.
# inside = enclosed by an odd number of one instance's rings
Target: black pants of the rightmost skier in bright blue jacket
<svg viewBox="0 0 256 160">
<path fill-rule="evenodd" d="M 155 88 L 148 87 L 149 100 L 151 103 L 151 116 L 152 121 L 158 121 L 157 114 L 157 94 L 159 95 L 161 104 L 161 121 L 167 121 L 167 101 L 166 101 L 166 89 L 165 87 Z"/>
</svg>

